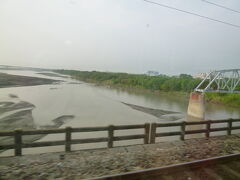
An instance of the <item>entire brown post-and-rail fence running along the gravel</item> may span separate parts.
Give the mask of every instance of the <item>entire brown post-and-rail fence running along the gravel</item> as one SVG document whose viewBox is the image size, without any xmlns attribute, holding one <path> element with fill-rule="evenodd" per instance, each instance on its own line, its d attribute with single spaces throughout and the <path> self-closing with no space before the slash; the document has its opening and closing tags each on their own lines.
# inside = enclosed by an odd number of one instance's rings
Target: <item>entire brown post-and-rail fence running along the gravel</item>
<svg viewBox="0 0 240 180">
<path fill-rule="evenodd" d="M 240 119 L 227 119 L 227 120 L 208 120 L 208 121 L 193 121 L 193 122 L 175 122 L 175 123 L 146 123 L 139 125 L 119 125 L 119 126 L 104 126 L 104 127 L 81 127 L 81 128 L 72 128 L 66 127 L 65 129 L 47 129 L 47 130 L 20 130 L 17 129 L 15 131 L 1 131 L 1 136 L 13 136 L 14 144 L 9 145 L 0 145 L 0 150 L 14 149 L 15 156 L 22 155 L 22 148 L 30 148 L 30 147 L 45 147 L 45 146 L 58 146 L 65 145 L 65 151 L 71 151 L 71 145 L 73 144 L 85 144 L 85 143 L 99 143 L 99 142 L 107 142 L 107 147 L 112 148 L 114 141 L 123 141 L 123 140 L 134 140 L 134 139 L 143 139 L 143 144 L 155 143 L 157 137 L 165 137 L 165 136 L 180 136 L 180 140 L 185 139 L 185 135 L 187 134 L 197 134 L 197 133 L 205 133 L 206 138 L 210 137 L 211 132 L 216 131 L 226 131 L 227 135 L 231 135 L 232 130 L 240 129 L 240 126 L 233 126 L 233 122 L 240 122 Z M 227 127 L 221 128 L 211 128 L 212 124 L 216 123 L 227 123 Z M 186 126 L 189 125 L 206 125 L 205 129 L 197 129 L 197 130 L 186 130 Z M 173 127 L 180 126 L 180 131 L 173 132 L 162 132 L 157 133 L 157 128 L 159 127 Z M 133 134 L 133 135 L 125 135 L 125 136 L 115 136 L 115 130 L 131 130 L 131 129 L 143 129 L 143 134 Z M 96 138 L 87 138 L 87 139 L 72 139 L 72 134 L 77 132 L 96 132 L 96 131 L 107 131 L 107 137 L 96 137 Z M 31 143 L 23 143 L 22 136 L 24 135 L 39 135 L 39 134 L 58 134 L 64 133 L 65 140 L 58 141 L 46 141 L 46 142 L 31 142 Z"/>
</svg>

